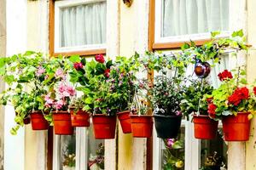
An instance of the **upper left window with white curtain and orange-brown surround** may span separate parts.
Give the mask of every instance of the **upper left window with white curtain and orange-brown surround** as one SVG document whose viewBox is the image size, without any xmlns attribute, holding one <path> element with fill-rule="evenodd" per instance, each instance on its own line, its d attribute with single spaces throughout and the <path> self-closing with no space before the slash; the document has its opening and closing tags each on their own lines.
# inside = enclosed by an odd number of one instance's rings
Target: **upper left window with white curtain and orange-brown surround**
<svg viewBox="0 0 256 170">
<path fill-rule="evenodd" d="M 104 54 L 106 0 L 61 0 L 50 3 L 51 54 Z"/>
</svg>

